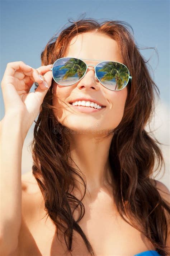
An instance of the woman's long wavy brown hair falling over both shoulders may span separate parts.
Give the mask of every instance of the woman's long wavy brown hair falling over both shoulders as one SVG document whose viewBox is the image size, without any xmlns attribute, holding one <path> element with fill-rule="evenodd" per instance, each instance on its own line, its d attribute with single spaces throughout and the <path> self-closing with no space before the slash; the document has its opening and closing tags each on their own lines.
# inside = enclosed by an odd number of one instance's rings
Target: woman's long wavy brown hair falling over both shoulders
<svg viewBox="0 0 170 256">
<path fill-rule="evenodd" d="M 109 149 L 109 163 L 115 186 L 113 196 L 121 217 L 145 235 L 157 252 L 167 255 L 167 216 L 170 214 L 170 206 L 160 196 L 156 182 L 151 178 L 154 172 L 161 171 L 165 163 L 159 146 L 161 143 L 151 131 L 146 131 L 146 125 L 150 123 L 155 111 L 155 97 L 159 97 L 160 91 L 151 78 L 148 61 L 140 54 L 133 37 L 133 28 L 127 22 L 107 20 L 99 23 L 92 18 L 69 22 L 71 24 L 66 24 L 58 36 L 55 34 L 48 41 L 41 53 L 42 65 L 53 64 L 56 59 L 63 57 L 70 40 L 79 33 L 97 29 L 118 42 L 119 52 L 129 69 L 132 82 L 127 86 L 128 96 L 123 118 L 114 129 Z M 44 198 L 47 211 L 45 216 L 48 215 L 57 227 L 57 236 L 60 230 L 71 252 L 75 230 L 81 235 L 89 253 L 94 255 L 88 238 L 79 226 L 79 221 L 85 214 L 82 199 L 86 193 L 86 183 L 79 167 L 75 169 L 69 164 L 69 135 L 62 132 L 64 126 L 54 116 L 53 109 L 56 107 L 52 105 L 52 97 L 51 86 L 35 121 L 32 142 L 33 175 Z M 74 189 L 73 174 L 85 186 L 81 200 L 69 191 L 70 186 Z M 77 220 L 73 217 L 74 211 L 71 211 L 70 203 L 75 205 L 75 209 L 80 208 Z M 124 214 L 131 222 L 124 218 Z M 142 229 L 134 220 L 140 222 Z"/>
</svg>

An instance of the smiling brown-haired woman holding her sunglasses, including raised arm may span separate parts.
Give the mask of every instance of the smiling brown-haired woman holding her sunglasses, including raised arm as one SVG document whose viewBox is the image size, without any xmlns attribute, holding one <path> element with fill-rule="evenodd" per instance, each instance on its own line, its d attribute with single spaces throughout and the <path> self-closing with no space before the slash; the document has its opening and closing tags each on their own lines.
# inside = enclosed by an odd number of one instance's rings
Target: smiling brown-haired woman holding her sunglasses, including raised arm
<svg viewBox="0 0 170 256">
<path fill-rule="evenodd" d="M 8 63 L 1 82 L 2 255 L 168 255 L 169 190 L 151 178 L 164 160 L 145 130 L 159 89 L 127 23 L 73 22 L 41 62 Z"/>
</svg>

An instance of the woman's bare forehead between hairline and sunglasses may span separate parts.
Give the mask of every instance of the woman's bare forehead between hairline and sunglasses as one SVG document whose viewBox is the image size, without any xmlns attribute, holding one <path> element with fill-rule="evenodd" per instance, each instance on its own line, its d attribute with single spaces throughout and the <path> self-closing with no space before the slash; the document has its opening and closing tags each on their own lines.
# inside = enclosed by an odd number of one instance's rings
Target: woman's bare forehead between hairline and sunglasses
<svg viewBox="0 0 170 256">
<path fill-rule="evenodd" d="M 64 57 L 113 60 L 122 63 L 117 41 L 98 32 L 86 32 L 73 37 Z"/>
</svg>

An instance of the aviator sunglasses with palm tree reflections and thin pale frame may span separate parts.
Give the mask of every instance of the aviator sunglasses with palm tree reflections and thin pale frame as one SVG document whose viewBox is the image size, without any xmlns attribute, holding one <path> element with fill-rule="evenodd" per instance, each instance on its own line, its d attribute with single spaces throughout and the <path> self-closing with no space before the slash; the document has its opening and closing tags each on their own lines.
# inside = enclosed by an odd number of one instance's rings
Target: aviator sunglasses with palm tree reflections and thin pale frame
<svg viewBox="0 0 170 256">
<path fill-rule="evenodd" d="M 128 68 L 120 63 L 110 60 L 97 60 L 100 63 L 96 65 L 87 65 L 83 60 L 97 59 L 78 59 L 72 57 L 63 57 L 57 59 L 53 67 L 52 76 L 59 85 L 69 86 L 80 81 L 86 74 L 88 66 L 93 66 L 95 77 L 99 82 L 109 90 L 120 91 L 132 80 Z"/>
</svg>

